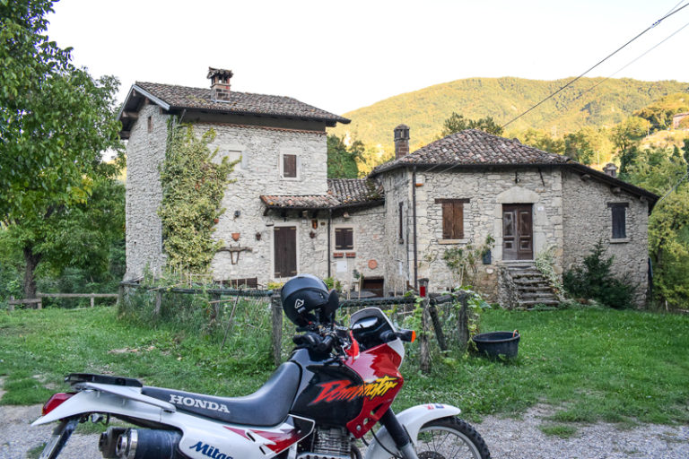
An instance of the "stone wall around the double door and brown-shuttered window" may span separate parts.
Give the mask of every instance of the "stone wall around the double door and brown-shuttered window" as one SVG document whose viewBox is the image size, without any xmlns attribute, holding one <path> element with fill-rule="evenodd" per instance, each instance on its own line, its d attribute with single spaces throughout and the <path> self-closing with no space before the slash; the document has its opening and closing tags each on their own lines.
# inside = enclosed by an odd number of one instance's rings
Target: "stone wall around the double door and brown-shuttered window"
<svg viewBox="0 0 689 459">
<path fill-rule="evenodd" d="M 391 259 L 391 281 L 414 282 L 413 221 L 411 219 L 411 171 L 395 171 L 382 178 L 386 192 L 388 228 L 386 242 Z M 558 264 L 562 261 L 562 180 L 559 170 L 542 168 L 514 170 L 465 169 L 417 173 L 416 214 L 418 277 L 429 278 L 430 290 L 457 287 L 458 278 L 442 259 L 451 247 L 480 246 L 487 236 L 495 239 L 492 263 L 478 263 L 476 287 L 489 299 L 497 298 L 497 264 L 502 260 L 502 204 L 533 204 L 534 255 L 554 246 Z M 464 204 L 463 239 L 442 238 L 442 205 L 436 199 L 468 199 Z M 398 243 L 398 203 L 405 209 L 403 244 Z M 396 263 L 397 262 L 397 263 Z M 401 267 L 400 267 L 401 266 Z M 559 267 L 559 266 L 558 266 Z"/>
</svg>

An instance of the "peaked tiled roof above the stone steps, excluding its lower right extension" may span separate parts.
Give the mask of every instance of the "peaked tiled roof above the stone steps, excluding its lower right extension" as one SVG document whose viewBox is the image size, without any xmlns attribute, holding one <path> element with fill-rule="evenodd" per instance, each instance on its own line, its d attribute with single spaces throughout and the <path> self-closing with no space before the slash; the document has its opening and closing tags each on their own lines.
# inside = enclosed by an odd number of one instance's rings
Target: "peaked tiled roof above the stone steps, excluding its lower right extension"
<svg viewBox="0 0 689 459">
<path fill-rule="evenodd" d="M 551 166 L 569 158 L 477 129 L 467 129 L 429 143 L 402 158 L 373 169 L 377 175 L 406 166 Z"/>
</svg>

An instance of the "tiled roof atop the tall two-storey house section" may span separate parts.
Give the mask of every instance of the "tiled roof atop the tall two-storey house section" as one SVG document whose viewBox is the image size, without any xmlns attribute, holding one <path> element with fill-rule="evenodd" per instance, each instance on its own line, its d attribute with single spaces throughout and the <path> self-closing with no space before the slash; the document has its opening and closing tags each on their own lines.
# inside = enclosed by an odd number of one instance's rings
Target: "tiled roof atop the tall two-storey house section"
<svg viewBox="0 0 689 459">
<path fill-rule="evenodd" d="M 256 115 L 268 117 L 298 118 L 310 121 L 323 121 L 327 126 L 350 122 L 320 108 L 291 97 L 254 94 L 231 91 L 230 100 L 213 100 L 210 88 L 191 88 L 157 82 L 135 82 L 126 96 L 118 119 L 122 121 L 123 131 L 128 131 L 130 120 L 123 113 L 135 111 L 142 97 L 152 100 L 166 110 L 197 109 L 235 115 Z"/>
</svg>

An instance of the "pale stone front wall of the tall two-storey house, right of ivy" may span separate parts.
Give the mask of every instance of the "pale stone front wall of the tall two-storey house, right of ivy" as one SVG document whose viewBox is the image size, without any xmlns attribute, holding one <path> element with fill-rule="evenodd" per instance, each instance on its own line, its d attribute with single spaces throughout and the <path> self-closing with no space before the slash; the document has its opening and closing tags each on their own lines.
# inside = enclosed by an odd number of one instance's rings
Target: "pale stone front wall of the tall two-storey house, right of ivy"
<svg viewBox="0 0 689 459">
<path fill-rule="evenodd" d="M 274 212 L 264 215 L 260 195 L 325 195 L 327 193 L 326 134 L 320 132 L 265 127 L 197 124 L 201 134 L 213 127 L 212 148 L 216 158 L 240 160 L 231 173 L 233 181 L 222 198 L 225 212 L 216 225 L 215 237 L 225 247 L 247 251 L 222 251 L 214 256 L 212 271 L 219 281 L 257 277 L 266 285 L 275 279 L 274 231 L 278 226 L 293 226 L 297 231 L 297 268 L 300 273 L 327 272 L 327 213 L 306 217 L 290 212 L 285 218 Z M 281 177 L 282 154 L 297 155 L 297 178 Z M 313 230 L 312 220 L 318 221 Z M 315 237 L 311 238 L 313 230 Z M 239 239 L 231 235 L 239 233 Z M 279 280 L 278 280 L 279 281 Z"/>
</svg>

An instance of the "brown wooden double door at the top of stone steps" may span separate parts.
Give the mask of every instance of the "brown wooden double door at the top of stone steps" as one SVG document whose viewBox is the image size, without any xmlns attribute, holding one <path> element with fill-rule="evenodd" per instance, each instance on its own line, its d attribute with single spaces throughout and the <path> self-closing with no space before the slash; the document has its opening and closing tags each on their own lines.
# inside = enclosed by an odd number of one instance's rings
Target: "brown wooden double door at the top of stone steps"
<svg viewBox="0 0 689 459">
<path fill-rule="evenodd" d="M 531 204 L 502 204 L 502 259 L 534 259 Z"/>
</svg>

